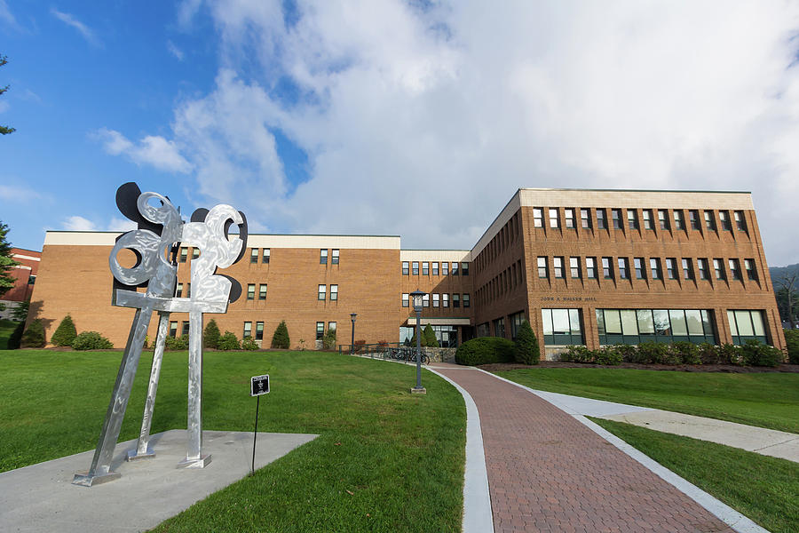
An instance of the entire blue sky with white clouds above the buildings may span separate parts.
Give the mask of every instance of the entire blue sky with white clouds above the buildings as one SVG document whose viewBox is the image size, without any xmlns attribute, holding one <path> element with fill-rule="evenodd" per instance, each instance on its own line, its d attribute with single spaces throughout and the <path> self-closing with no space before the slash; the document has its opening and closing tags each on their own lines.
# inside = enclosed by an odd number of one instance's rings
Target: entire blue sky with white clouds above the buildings
<svg viewBox="0 0 799 533">
<path fill-rule="evenodd" d="M 784 266 L 797 53 L 776 0 L 0 0 L 0 220 L 128 229 L 136 181 L 250 233 L 471 249 L 518 187 L 735 190 Z"/>
</svg>

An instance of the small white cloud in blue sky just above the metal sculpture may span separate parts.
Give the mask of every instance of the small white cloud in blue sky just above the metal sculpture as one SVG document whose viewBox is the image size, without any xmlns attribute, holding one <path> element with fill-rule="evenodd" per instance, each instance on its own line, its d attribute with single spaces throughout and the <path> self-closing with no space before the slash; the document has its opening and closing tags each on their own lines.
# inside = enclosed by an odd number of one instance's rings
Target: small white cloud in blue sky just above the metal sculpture
<svg viewBox="0 0 799 533">
<path fill-rule="evenodd" d="M 119 131 L 102 128 L 94 137 L 102 141 L 108 154 L 125 155 L 134 163 L 149 164 L 168 172 L 186 173 L 191 170 L 191 164 L 180 155 L 176 143 L 161 136 L 147 135 L 134 144 Z"/>
</svg>

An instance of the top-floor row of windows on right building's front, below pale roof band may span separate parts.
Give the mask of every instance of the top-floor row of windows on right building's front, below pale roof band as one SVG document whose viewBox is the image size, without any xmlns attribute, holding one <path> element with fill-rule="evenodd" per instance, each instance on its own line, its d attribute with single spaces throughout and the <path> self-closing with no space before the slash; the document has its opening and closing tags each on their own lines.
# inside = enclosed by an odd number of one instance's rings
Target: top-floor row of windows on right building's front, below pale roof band
<svg viewBox="0 0 799 533">
<path fill-rule="evenodd" d="M 533 208 L 533 226 L 544 226 L 544 211 L 542 207 Z M 577 210 L 574 208 L 565 208 L 563 210 L 563 221 L 561 222 L 560 210 L 557 207 L 549 208 L 546 210 L 549 215 L 549 227 L 551 228 L 576 228 L 577 227 Z M 582 208 L 579 210 L 580 227 L 583 229 L 591 229 L 593 227 L 593 218 L 591 217 L 592 208 Z M 610 224 L 608 223 L 607 210 L 604 208 L 593 208 L 596 214 L 597 229 L 608 229 L 613 226 L 614 229 L 622 229 L 628 227 L 629 229 L 644 229 L 653 230 L 657 225 L 662 230 L 670 230 L 672 226 L 676 230 L 687 230 L 688 227 L 695 230 L 701 230 L 705 227 L 708 231 L 718 231 L 720 227 L 724 231 L 732 231 L 734 227 L 738 231 L 747 231 L 747 221 L 744 217 L 743 211 L 730 211 L 719 210 L 652 210 L 643 209 L 641 211 L 641 219 L 638 219 L 637 209 L 611 209 L 610 210 Z M 671 211 L 669 216 L 668 211 Z M 685 212 L 687 211 L 688 224 L 685 223 Z M 717 217 L 716 217 L 717 213 Z M 701 218 L 700 218 L 701 215 Z M 657 217 L 657 219 L 655 219 Z"/>
</svg>

